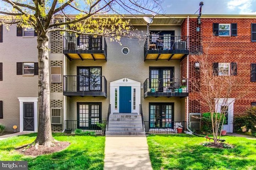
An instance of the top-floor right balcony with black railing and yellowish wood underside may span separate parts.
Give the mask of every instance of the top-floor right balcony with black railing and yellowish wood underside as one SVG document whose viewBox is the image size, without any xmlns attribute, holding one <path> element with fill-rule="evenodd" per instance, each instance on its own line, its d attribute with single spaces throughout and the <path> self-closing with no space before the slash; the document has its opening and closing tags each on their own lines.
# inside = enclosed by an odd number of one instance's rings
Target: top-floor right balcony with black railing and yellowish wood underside
<svg viewBox="0 0 256 170">
<path fill-rule="evenodd" d="M 188 36 L 150 36 L 149 45 L 144 46 L 144 61 L 181 59 L 189 54 L 187 48 Z"/>
</svg>

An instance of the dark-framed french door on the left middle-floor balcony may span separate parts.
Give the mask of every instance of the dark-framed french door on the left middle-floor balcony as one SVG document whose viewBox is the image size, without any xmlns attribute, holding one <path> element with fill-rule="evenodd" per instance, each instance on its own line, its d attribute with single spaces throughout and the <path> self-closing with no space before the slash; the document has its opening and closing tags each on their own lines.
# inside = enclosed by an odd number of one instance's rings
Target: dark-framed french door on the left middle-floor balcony
<svg viewBox="0 0 256 170">
<path fill-rule="evenodd" d="M 78 68 L 78 91 L 101 91 L 101 68 L 79 67 Z"/>
</svg>

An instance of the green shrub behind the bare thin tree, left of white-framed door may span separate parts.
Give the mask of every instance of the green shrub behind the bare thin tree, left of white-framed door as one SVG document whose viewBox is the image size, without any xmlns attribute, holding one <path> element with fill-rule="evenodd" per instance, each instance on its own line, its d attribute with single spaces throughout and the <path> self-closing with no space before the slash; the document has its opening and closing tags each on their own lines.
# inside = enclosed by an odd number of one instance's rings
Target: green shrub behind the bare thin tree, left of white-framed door
<svg viewBox="0 0 256 170">
<path fill-rule="evenodd" d="M 214 113 L 213 114 L 214 119 L 216 118 L 216 116 L 217 116 L 217 120 L 220 120 L 220 113 Z M 223 117 L 222 117 L 222 120 L 220 121 L 220 125 L 222 124 L 222 121 L 223 121 Z M 211 119 L 211 113 L 210 112 L 202 114 L 201 122 L 202 122 L 201 132 L 203 134 L 212 134 L 212 119 Z M 220 130 L 221 130 L 221 126 L 218 129 L 219 133 L 220 133 Z"/>
</svg>

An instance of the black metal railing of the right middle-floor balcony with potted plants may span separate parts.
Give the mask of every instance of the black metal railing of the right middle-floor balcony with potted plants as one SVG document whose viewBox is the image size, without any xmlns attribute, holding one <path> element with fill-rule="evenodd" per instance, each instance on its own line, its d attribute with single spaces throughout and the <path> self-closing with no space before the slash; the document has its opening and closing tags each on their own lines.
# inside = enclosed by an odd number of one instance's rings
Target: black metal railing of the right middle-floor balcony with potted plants
<svg viewBox="0 0 256 170">
<path fill-rule="evenodd" d="M 188 79 L 147 78 L 143 84 L 146 92 L 188 92 Z"/>
</svg>

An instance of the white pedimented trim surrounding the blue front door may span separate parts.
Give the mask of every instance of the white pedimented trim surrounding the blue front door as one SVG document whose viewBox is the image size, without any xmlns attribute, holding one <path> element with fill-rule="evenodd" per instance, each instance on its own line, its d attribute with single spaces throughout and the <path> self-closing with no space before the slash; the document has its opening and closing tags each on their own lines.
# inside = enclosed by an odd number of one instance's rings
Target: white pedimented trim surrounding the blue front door
<svg viewBox="0 0 256 170">
<path fill-rule="evenodd" d="M 122 78 L 120 80 L 116 80 L 114 82 L 110 82 L 110 104 L 111 104 L 111 114 L 119 113 L 119 87 L 120 86 L 130 86 L 132 88 L 131 91 L 131 110 L 132 113 L 140 114 L 140 82 L 136 82 L 129 78 Z M 117 88 L 117 110 L 115 110 L 115 88 Z M 136 109 L 133 109 L 133 89 L 136 89 L 136 97 L 135 97 L 135 106 Z"/>
</svg>

